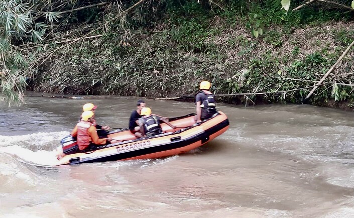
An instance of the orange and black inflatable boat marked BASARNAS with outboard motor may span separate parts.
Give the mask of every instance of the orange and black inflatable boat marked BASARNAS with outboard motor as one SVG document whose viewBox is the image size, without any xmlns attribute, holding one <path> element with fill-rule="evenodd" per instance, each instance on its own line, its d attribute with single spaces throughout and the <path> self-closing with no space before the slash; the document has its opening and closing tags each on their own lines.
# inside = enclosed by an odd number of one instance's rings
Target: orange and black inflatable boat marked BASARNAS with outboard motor
<svg viewBox="0 0 354 218">
<path fill-rule="evenodd" d="M 217 112 L 211 118 L 201 123 L 195 123 L 195 114 L 168 121 L 178 127 L 172 129 L 161 124 L 162 134 L 137 139 L 129 129 L 116 130 L 108 133 L 108 137 L 116 140 L 113 144 L 97 147 L 95 150 L 84 153 L 69 154 L 77 146 L 71 136 L 61 140 L 61 149 L 64 155 L 55 165 L 92 163 L 115 160 L 133 160 L 161 158 L 188 152 L 197 148 L 215 137 L 224 133 L 228 126 L 228 119 L 222 112 Z"/>
</svg>

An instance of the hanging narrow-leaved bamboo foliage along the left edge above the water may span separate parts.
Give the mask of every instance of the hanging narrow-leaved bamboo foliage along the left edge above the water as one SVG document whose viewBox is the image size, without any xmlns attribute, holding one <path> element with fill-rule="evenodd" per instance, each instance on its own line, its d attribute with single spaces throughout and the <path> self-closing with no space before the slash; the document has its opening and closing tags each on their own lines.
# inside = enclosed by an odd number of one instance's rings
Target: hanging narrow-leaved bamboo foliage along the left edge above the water
<svg viewBox="0 0 354 218">
<path fill-rule="evenodd" d="M 0 1 L 0 25 L 4 27 L 0 30 L 0 66 L 3 69 L 0 88 L 9 104 L 22 101 L 23 88 L 26 85 L 25 75 L 20 71 L 26 62 L 13 41 L 22 39 L 39 42 L 47 27 L 43 23 L 35 23 L 33 14 L 34 10 L 23 1 Z"/>
</svg>

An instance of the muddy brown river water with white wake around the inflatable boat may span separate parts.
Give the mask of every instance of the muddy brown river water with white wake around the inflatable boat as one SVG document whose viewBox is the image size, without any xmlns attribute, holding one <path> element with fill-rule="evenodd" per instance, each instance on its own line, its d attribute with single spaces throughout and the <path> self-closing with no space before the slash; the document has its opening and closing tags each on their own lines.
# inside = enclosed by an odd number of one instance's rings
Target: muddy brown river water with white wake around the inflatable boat
<svg viewBox="0 0 354 218">
<path fill-rule="evenodd" d="M 354 217 L 352 112 L 218 104 L 229 129 L 189 153 L 51 167 L 93 102 L 97 123 L 127 127 L 137 98 L 0 102 L 0 217 Z M 194 103 L 147 100 L 178 117 Z"/>
</svg>

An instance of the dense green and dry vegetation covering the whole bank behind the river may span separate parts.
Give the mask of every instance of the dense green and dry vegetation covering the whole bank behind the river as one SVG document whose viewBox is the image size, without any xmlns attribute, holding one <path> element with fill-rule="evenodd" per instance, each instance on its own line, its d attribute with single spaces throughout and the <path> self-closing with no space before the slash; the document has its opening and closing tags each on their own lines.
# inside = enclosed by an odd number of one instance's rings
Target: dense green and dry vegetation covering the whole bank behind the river
<svg viewBox="0 0 354 218">
<path fill-rule="evenodd" d="M 11 101 L 25 78 L 35 91 L 146 97 L 192 95 L 207 79 L 216 94 L 256 93 L 221 97 L 225 102 L 300 103 L 354 40 L 351 1 L 336 2 L 347 8 L 317 2 L 294 12 L 303 2 L 292 1 L 287 13 L 280 0 L 39 2 L 35 15 L 30 5 L 15 11 L 29 25 L 14 18 L 0 31 L 8 57 L 1 86 Z M 102 5 L 87 7 L 94 4 Z M 352 54 L 311 103 L 352 104 Z"/>
</svg>

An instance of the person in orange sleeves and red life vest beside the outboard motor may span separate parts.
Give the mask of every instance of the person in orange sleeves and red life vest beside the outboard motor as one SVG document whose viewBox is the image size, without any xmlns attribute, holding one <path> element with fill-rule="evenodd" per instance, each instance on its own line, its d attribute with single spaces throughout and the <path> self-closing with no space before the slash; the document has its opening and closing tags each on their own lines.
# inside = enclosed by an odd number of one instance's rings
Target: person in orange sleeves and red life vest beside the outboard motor
<svg viewBox="0 0 354 218">
<path fill-rule="evenodd" d="M 72 137 L 77 136 L 77 145 L 80 151 L 84 151 L 89 146 L 100 146 L 110 144 L 111 138 L 99 139 L 96 128 L 93 124 L 94 114 L 92 111 L 83 112 L 81 121 L 75 126 L 71 132 Z"/>
</svg>

